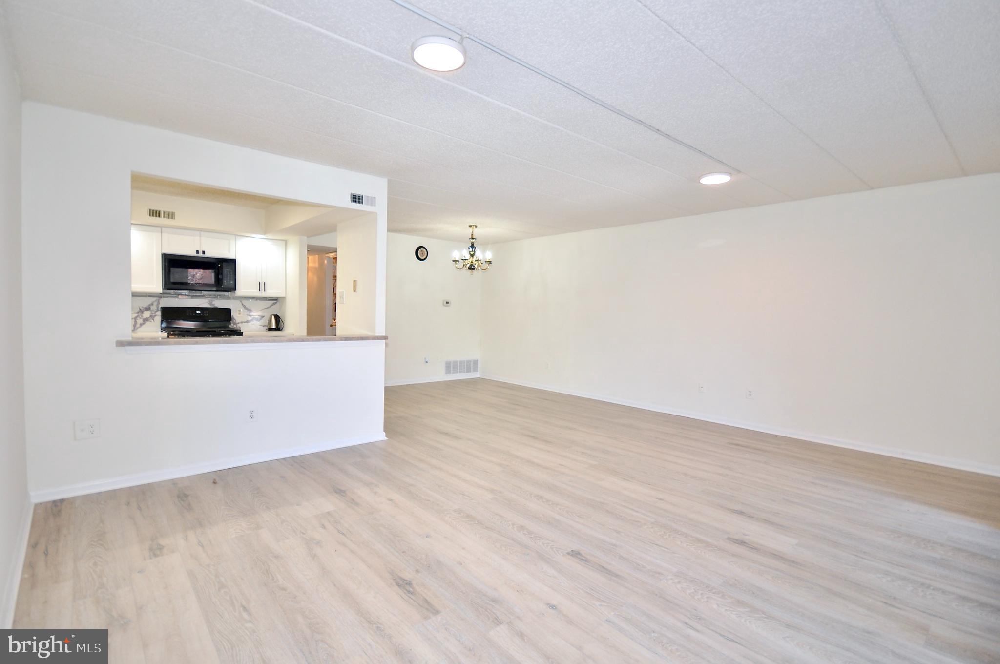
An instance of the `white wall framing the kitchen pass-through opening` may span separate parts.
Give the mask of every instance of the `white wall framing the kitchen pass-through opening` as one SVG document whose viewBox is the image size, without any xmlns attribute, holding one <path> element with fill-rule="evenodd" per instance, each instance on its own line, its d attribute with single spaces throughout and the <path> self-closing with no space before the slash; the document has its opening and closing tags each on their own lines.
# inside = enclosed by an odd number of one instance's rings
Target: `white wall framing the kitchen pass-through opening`
<svg viewBox="0 0 1000 664">
<path fill-rule="evenodd" d="M 133 171 L 320 205 L 346 200 L 359 187 L 384 201 L 384 179 L 37 103 L 24 105 L 23 123 L 33 496 L 381 436 L 384 342 L 144 354 L 116 348 L 115 339 L 130 333 Z M 384 205 L 375 216 L 376 234 L 384 236 Z M 384 265 L 384 257 L 375 260 Z M 374 272 L 384 287 L 384 271 Z M 57 293 L 66 295 L 53 307 Z M 384 297 L 374 306 L 384 309 Z M 251 408 L 259 416 L 253 426 Z M 86 418 L 100 418 L 100 437 L 74 441 L 73 421 Z"/>
</svg>

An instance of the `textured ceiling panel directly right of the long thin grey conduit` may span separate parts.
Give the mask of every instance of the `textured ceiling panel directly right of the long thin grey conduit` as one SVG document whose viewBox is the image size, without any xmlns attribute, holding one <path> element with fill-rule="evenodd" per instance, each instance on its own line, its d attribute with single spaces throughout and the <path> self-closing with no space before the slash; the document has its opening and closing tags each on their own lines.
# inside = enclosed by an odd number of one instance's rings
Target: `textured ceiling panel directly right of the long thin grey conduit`
<svg viewBox="0 0 1000 664">
<path fill-rule="evenodd" d="M 786 195 L 865 188 L 639 3 L 423 0 L 420 5 Z"/>
</svg>

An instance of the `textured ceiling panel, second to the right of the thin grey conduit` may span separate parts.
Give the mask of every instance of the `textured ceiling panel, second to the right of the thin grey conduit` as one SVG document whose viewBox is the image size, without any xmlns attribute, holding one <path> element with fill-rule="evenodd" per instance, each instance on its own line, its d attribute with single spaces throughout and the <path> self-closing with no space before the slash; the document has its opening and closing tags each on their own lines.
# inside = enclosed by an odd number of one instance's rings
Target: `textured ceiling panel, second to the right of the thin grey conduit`
<svg viewBox="0 0 1000 664">
<path fill-rule="evenodd" d="M 961 175 L 877 2 L 644 2 L 868 185 Z"/>
</svg>

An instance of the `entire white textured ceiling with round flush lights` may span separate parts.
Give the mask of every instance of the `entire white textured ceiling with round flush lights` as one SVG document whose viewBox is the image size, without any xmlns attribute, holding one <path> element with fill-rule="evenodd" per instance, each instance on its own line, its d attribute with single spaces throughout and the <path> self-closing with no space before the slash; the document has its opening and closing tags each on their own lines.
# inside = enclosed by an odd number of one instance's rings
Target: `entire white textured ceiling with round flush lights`
<svg viewBox="0 0 1000 664">
<path fill-rule="evenodd" d="M 410 44 L 451 33 L 391 0 L 0 0 L 26 98 L 385 176 L 393 231 L 496 242 L 1000 171 L 998 0 L 414 5 L 586 96 L 473 40 L 424 71 Z"/>
</svg>

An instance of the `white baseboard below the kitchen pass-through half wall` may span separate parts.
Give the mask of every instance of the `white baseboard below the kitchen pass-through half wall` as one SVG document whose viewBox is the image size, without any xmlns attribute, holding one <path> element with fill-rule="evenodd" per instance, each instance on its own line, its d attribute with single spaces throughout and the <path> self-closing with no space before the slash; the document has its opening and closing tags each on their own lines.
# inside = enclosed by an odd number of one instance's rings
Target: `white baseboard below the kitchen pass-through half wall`
<svg viewBox="0 0 1000 664">
<path fill-rule="evenodd" d="M 327 450 L 335 450 L 340 447 L 350 447 L 351 445 L 373 443 L 377 440 L 385 440 L 384 431 L 379 431 L 378 433 L 373 433 L 366 436 L 355 436 L 354 438 L 344 438 L 332 442 L 324 441 L 321 443 L 314 443 L 312 445 L 304 445 L 302 447 L 293 447 L 291 449 L 276 450 L 273 452 L 258 452 L 256 454 L 247 454 L 239 457 L 230 457 L 228 459 L 219 459 L 217 461 L 196 463 L 190 466 L 165 468 L 163 470 L 151 470 L 144 473 L 120 475 L 119 477 L 112 477 L 106 480 L 97 480 L 95 482 L 82 482 L 80 484 L 71 484 L 69 486 L 55 487 L 52 489 L 42 489 L 39 491 L 31 492 L 31 501 L 33 503 L 44 503 L 49 500 L 58 500 L 60 498 L 72 498 L 73 496 L 83 496 L 88 493 L 100 493 L 101 491 L 122 489 L 128 486 L 139 486 L 140 484 L 149 484 L 151 482 L 162 482 L 163 480 L 173 480 L 177 479 L 178 477 L 189 477 L 191 475 L 200 475 L 202 473 L 214 473 L 215 471 L 225 470 L 226 468 L 236 468 L 237 466 L 249 466 L 252 463 L 274 461 L 275 459 L 287 459 L 288 457 L 301 456 L 303 454 L 313 454 L 314 452 L 325 452 Z"/>
</svg>

